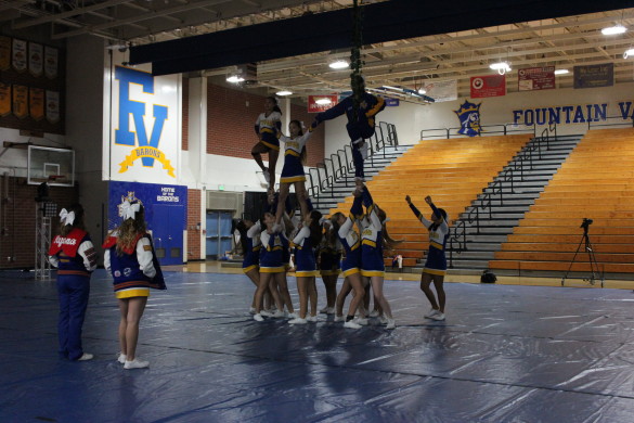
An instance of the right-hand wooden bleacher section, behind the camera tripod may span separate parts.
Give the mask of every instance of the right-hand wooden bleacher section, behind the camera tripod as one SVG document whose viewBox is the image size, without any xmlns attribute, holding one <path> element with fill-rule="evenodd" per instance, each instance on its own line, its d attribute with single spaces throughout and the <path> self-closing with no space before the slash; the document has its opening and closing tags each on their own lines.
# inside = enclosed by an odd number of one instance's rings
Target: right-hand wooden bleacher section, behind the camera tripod
<svg viewBox="0 0 634 423">
<path fill-rule="evenodd" d="M 489 267 L 568 271 L 590 218 L 598 270 L 634 273 L 633 188 L 634 129 L 590 130 Z M 582 245 L 571 271 L 590 270 Z"/>
</svg>

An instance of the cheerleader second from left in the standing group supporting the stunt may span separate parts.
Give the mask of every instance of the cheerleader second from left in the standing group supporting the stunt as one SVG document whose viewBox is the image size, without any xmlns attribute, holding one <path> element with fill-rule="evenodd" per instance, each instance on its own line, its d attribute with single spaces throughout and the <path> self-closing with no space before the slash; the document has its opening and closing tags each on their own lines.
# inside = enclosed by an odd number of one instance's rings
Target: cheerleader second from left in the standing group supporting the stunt
<svg viewBox="0 0 634 423">
<path fill-rule="evenodd" d="M 275 225 L 275 216 L 270 213 L 264 214 L 264 226 L 266 230 L 260 235 L 260 242 L 262 247 L 260 249 L 260 283 L 256 291 L 256 313 L 254 320 L 261 322 L 264 320 L 263 316 L 271 316 L 274 318 L 283 318 L 284 304 L 280 293 L 277 292 L 279 285 L 284 285 L 284 275 L 286 269 L 284 267 L 284 248 L 288 248 L 285 236 L 280 232 L 273 232 L 273 226 Z M 262 298 L 264 293 L 270 290 L 277 311 L 274 313 L 268 313 L 262 311 Z M 286 290 L 288 291 L 288 290 Z"/>
</svg>

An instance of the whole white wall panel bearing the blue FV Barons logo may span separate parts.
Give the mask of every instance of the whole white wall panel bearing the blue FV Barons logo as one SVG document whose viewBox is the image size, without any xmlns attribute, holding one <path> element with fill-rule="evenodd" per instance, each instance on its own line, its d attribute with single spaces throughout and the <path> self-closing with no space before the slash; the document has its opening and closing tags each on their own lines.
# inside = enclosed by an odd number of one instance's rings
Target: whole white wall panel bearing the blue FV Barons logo
<svg viewBox="0 0 634 423">
<path fill-rule="evenodd" d="M 180 150 L 180 78 L 120 65 L 111 74 L 109 179 L 176 183 Z M 112 110 L 108 111 L 112 104 Z M 107 179 L 107 178 L 106 178 Z"/>
</svg>

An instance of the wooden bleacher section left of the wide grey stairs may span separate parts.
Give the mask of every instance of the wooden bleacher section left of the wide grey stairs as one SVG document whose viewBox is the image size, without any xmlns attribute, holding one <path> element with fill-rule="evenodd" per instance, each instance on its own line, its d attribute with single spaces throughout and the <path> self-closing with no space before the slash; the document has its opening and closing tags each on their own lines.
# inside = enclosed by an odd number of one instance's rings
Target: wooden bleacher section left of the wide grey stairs
<svg viewBox="0 0 634 423">
<path fill-rule="evenodd" d="M 456 219 L 530 138 L 516 134 L 420 141 L 367 182 L 374 201 L 390 218 L 390 235 L 404 240 L 397 249 L 403 256 L 403 267 L 416 266 L 429 245 L 427 230 L 414 217 L 405 195 L 428 215 L 431 211 L 424 198 L 431 195 L 450 219 Z M 349 195 L 331 214 L 347 215 L 351 205 Z M 386 258 L 386 267 L 390 266 L 391 258 Z"/>
</svg>

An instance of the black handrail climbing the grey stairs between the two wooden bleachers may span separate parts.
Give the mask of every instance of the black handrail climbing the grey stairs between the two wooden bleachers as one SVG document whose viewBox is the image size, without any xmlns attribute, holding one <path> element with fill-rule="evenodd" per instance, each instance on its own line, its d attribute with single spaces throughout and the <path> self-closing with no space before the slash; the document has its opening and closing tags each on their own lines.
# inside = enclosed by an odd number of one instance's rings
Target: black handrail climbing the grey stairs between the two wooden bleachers
<svg viewBox="0 0 634 423">
<path fill-rule="evenodd" d="M 505 128 L 506 129 L 506 128 Z M 534 130 L 534 126 L 533 126 Z M 491 133 L 491 132 L 489 132 Z M 534 132 L 533 132 L 534 133 Z M 515 193 L 515 179 L 519 175 L 519 180 L 525 180 L 525 167 L 533 169 L 533 162 L 542 158 L 542 151 L 551 149 L 551 134 L 557 137 L 557 125 L 551 124 L 545 128 L 540 137 L 533 137 L 528 148 L 523 149 L 517 157 L 502 171 L 491 185 L 489 191 L 484 192 L 479 200 L 475 201 L 466 217 L 456 220 L 456 225 L 450 229 L 449 238 L 449 267 L 453 268 L 453 253 L 460 254 L 467 251 L 467 223 L 475 223 L 476 233 L 480 234 L 480 216 L 489 215 L 493 218 L 493 201 L 497 200 L 500 206 L 504 205 L 504 194 L 507 184 L 510 184 L 509 193 Z M 423 137 L 423 131 L 420 131 Z M 528 163 L 528 166 L 526 165 Z M 497 198 L 494 198 L 497 196 Z M 479 204 L 478 204 L 479 203 Z M 454 243 L 457 247 L 454 248 Z"/>
</svg>

